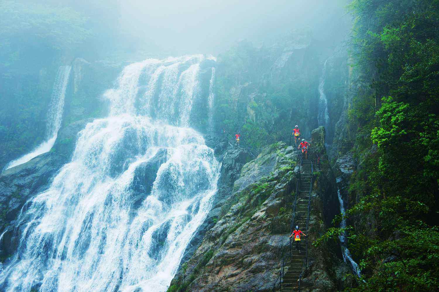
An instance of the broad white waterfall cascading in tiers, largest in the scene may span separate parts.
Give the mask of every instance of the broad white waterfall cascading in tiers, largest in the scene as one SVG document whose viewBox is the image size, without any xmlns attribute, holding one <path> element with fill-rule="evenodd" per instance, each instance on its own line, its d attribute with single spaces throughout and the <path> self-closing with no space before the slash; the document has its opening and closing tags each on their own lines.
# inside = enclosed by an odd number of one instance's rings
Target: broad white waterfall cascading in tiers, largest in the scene
<svg viewBox="0 0 439 292">
<path fill-rule="evenodd" d="M 86 125 L 72 160 L 19 215 L 0 290 L 166 291 L 219 177 L 213 150 L 188 128 L 204 59 L 123 69 L 104 94 L 109 116 Z"/>
</svg>

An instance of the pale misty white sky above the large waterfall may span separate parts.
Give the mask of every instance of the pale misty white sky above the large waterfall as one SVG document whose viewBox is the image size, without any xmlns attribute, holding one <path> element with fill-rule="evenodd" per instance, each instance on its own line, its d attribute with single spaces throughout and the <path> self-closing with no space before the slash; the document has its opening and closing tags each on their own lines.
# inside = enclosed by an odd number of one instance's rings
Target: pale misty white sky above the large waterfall
<svg viewBox="0 0 439 292">
<path fill-rule="evenodd" d="M 236 40 L 256 43 L 303 27 L 337 36 L 347 0 L 123 0 L 122 27 L 154 50 L 218 54 Z"/>
</svg>

